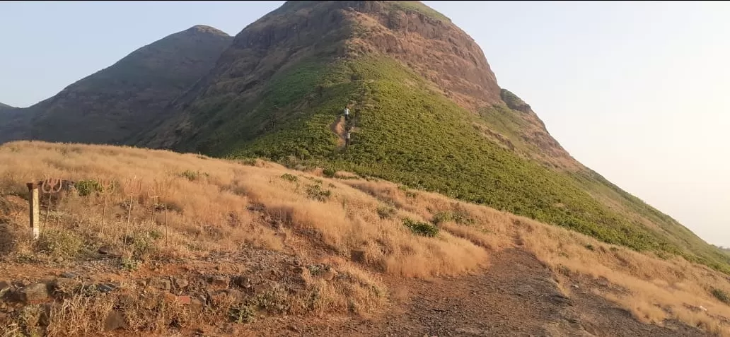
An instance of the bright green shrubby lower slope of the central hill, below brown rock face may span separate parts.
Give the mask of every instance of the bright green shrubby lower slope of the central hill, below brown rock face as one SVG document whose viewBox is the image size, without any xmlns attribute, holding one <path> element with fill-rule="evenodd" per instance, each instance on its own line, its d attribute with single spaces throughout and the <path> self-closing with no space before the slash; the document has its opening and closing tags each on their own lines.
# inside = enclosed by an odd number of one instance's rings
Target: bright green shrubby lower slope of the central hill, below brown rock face
<svg viewBox="0 0 730 337">
<path fill-rule="evenodd" d="M 605 242 L 679 254 L 730 270 L 727 258 L 701 240 L 682 242 L 694 235 L 680 225 L 660 219 L 669 223 L 663 226 L 669 234 L 661 233 L 592 198 L 585 191 L 588 187 L 612 189 L 596 177 L 581 180 L 550 171 L 486 142 L 472 123 L 487 121 L 432 93 L 399 63 L 360 58 L 332 64 L 304 62 L 291 69 L 296 70 L 280 74 L 263 99 L 247 106 L 255 113 L 211 133 L 203 150 L 234 158 L 283 160 L 294 155 L 300 163 L 382 177 L 561 225 Z M 337 137 L 328 125 L 350 100 L 356 102 L 353 120 L 361 131 L 353 136 L 353 147 L 342 152 L 336 150 Z M 279 118 L 275 124 L 265 117 L 273 112 Z M 256 123 L 267 122 L 275 126 L 256 129 Z M 233 130 L 239 132 L 228 133 Z M 623 198 L 639 205 L 633 197 Z M 637 207 L 635 211 L 649 214 L 650 219 L 664 216 L 649 206 Z"/>
</svg>

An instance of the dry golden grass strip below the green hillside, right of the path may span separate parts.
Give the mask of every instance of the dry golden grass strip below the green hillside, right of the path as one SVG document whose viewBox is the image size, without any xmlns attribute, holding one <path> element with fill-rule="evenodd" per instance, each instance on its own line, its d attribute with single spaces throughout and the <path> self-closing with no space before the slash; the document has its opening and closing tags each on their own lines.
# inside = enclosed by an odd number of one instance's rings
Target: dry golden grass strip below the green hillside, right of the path
<svg viewBox="0 0 730 337">
<path fill-rule="evenodd" d="M 523 245 L 558 275 L 608 279 L 628 293 L 602 295 L 629 309 L 644 322 L 661 324 L 664 319 L 675 318 L 718 336 L 730 336 L 726 323 L 726 318 L 730 318 L 730 306 L 711 294 L 712 289 L 727 293 L 729 279 L 706 266 L 689 263 L 681 257 L 662 260 L 654 255 L 604 244 L 564 228 L 456 202 L 435 193 L 418 191 L 415 192 L 417 198 L 408 198 L 409 191 L 391 182 L 356 180 L 345 183 L 426 219 L 439 212 L 466 212 L 472 222 L 460 225 L 447 221 L 440 224 L 441 228 L 486 249 Z M 567 288 L 562 290 L 569 292 Z M 699 309 L 700 306 L 707 311 Z"/>
</svg>

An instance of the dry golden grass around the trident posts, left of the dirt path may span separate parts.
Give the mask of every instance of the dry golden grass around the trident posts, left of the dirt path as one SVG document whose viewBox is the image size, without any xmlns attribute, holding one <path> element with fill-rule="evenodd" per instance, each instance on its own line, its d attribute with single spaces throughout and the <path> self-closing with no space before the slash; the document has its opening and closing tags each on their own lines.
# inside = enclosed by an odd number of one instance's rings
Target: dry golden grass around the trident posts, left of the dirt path
<svg viewBox="0 0 730 337">
<path fill-rule="evenodd" d="M 447 232 L 436 238 L 417 236 L 401 217 L 423 220 L 418 214 L 403 211 L 381 219 L 380 201 L 315 174 L 320 172 L 305 174 L 260 160 L 238 163 L 130 147 L 4 144 L 2 200 L 25 202 L 26 182 L 50 177 L 77 182 L 77 190 L 80 181 L 88 180 L 115 187 L 86 196 L 52 197 L 54 204 L 60 201 L 50 212 L 42 209 L 42 235 L 36 242 L 29 240 L 27 204 L 0 212 L 0 222 L 9 222 L 1 239 L 4 258 L 84 260 L 107 246 L 121 255 L 121 268 L 134 269 L 142 261 L 196 260 L 257 247 L 299 256 L 307 264 L 328 263 L 343 276 L 333 281 L 305 276 L 303 292 L 274 292 L 267 301 L 285 303 L 285 312 L 291 314 L 363 315 L 387 301 L 380 271 L 393 276 L 456 275 L 485 263 L 485 250 L 472 242 Z M 352 251 L 364 251 L 364 263 L 351 263 Z M 52 320 L 50 335 L 100 329 L 99 317 L 108 311 L 108 303 L 82 305 L 82 299 L 64 300 L 58 317 L 66 319 Z M 220 303 L 198 319 L 225 320 L 226 306 L 232 305 Z M 128 312 L 137 313 L 127 317 L 131 330 L 156 333 L 171 319 L 137 307 Z M 185 317 L 174 320 L 183 324 Z"/>
</svg>

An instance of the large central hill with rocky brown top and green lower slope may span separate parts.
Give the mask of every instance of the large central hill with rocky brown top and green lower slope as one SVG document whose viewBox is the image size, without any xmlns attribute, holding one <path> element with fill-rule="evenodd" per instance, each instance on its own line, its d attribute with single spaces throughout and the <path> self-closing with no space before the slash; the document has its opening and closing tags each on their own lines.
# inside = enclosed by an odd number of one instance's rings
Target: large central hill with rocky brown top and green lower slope
<svg viewBox="0 0 730 337">
<path fill-rule="evenodd" d="M 347 150 L 331 131 L 345 106 Z M 730 271 L 727 255 L 572 158 L 499 88 L 477 44 L 418 1 L 289 1 L 134 141 L 356 171 Z"/>
</svg>

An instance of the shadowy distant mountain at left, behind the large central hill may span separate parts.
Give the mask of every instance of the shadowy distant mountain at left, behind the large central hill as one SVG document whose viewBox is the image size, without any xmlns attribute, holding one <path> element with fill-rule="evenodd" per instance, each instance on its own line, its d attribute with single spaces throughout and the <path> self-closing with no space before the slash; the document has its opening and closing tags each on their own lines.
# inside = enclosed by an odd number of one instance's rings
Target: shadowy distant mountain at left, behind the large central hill
<svg viewBox="0 0 730 337">
<path fill-rule="evenodd" d="M 15 112 L 0 126 L 0 142 L 124 143 L 207 74 L 231 39 L 218 29 L 194 26 L 141 47 L 55 96 Z"/>
</svg>

